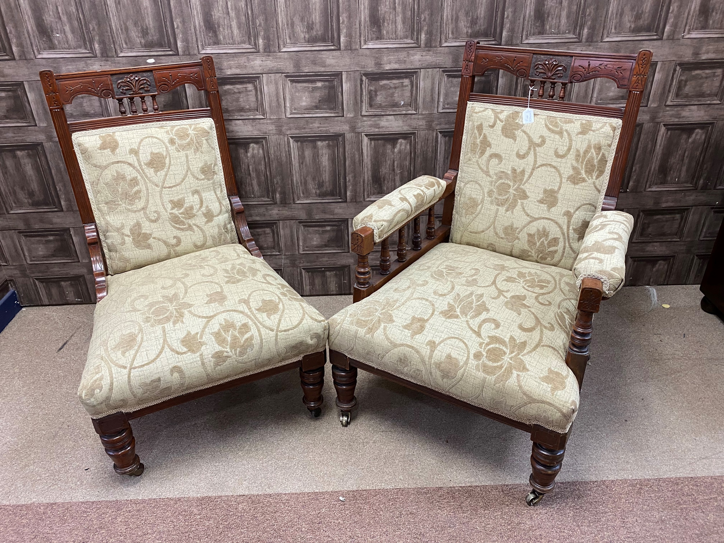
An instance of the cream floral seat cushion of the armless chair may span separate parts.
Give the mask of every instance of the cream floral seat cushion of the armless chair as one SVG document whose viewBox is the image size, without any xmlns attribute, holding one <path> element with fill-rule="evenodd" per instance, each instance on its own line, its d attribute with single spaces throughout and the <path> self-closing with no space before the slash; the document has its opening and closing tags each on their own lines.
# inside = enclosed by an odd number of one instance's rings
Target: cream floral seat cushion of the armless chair
<svg viewBox="0 0 724 543">
<path fill-rule="evenodd" d="M 93 418 L 324 350 L 327 322 L 238 244 L 108 278 L 78 397 Z"/>
</svg>

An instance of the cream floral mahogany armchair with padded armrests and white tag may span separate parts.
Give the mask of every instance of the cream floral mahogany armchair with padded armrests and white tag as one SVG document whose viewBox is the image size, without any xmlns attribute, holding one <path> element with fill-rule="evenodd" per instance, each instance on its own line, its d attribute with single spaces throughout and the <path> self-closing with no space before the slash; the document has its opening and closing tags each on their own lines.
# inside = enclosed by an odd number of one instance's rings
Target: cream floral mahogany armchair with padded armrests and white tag
<svg viewBox="0 0 724 543">
<path fill-rule="evenodd" d="M 616 196 L 651 58 L 466 43 L 444 179 L 418 177 L 353 221 L 355 303 L 329 319 L 342 426 L 365 369 L 529 432 L 526 502 L 553 489 L 594 313 L 625 278 L 633 217 L 615 211 Z M 473 93 L 487 70 L 523 78 L 530 102 Z M 565 101 L 570 83 L 594 77 L 628 89 L 626 106 Z M 528 103 L 534 122 L 523 124 Z"/>
</svg>

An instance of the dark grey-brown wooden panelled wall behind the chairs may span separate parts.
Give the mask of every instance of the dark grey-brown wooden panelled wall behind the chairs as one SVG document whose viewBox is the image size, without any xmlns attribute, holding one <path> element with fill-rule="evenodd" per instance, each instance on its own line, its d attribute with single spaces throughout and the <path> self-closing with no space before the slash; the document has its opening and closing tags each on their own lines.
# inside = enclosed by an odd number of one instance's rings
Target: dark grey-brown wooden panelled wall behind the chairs
<svg viewBox="0 0 724 543">
<path fill-rule="evenodd" d="M 240 197 L 265 258 L 303 295 L 346 294 L 351 218 L 447 168 L 468 38 L 654 51 L 618 200 L 636 216 L 628 285 L 698 282 L 724 216 L 721 0 L 3 0 L 0 284 L 25 305 L 93 300 L 39 70 L 213 54 Z M 573 87 L 574 101 L 625 100 L 608 80 Z M 476 90 L 525 93 L 506 73 Z M 114 114 L 83 98 L 72 119 Z M 159 102 L 203 97 L 187 88 Z"/>
</svg>

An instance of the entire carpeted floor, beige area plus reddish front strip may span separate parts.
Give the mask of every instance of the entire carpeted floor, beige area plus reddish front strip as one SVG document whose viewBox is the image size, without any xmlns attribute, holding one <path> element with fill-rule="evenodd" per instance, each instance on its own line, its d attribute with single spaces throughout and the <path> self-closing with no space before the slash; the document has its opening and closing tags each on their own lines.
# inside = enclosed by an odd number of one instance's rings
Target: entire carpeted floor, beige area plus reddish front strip
<svg viewBox="0 0 724 543">
<path fill-rule="evenodd" d="M 362 371 L 349 428 L 329 371 L 319 419 L 287 372 L 133 421 L 146 472 L 119 477 L 75 397 L 93 306 L 27 308 L 0 334 L 0 539 L 724 540 L 724 323 L 699 298 L 603 304 L 562 484 L 533 513 L 527 434 Z"/>
</svg>

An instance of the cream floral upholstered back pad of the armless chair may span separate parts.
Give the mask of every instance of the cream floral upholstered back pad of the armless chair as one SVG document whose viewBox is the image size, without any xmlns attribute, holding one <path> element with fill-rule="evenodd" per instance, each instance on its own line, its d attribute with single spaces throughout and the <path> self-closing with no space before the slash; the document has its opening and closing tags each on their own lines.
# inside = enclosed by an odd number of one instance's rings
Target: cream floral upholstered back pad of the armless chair
<svg viewBox="0 0 724 543">
<path fill-rule="evenodd" d="M 211 119 L 73 134 L 109 274 L 235 243 Z"/>
</svg>

